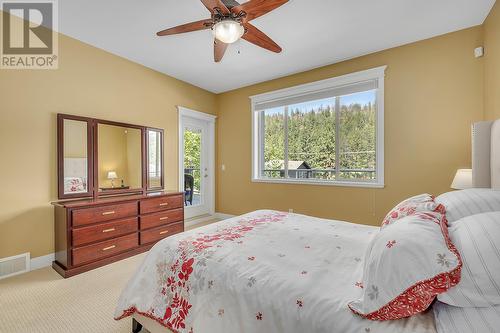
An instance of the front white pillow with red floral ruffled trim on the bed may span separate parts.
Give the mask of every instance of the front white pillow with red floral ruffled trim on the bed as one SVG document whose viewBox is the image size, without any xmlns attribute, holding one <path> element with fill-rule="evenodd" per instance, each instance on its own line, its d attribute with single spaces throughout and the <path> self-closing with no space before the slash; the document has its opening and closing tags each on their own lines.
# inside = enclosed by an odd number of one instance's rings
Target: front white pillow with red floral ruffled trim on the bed
<svg viewBox="0 0 500 333">
<path fill-rule="evenodd" d="M 444 216 L 417 212 L 374 237 L 365 257 L 363 295 L 349 308 L 370 320 L 410 317 L 456 285 L 461 267 Z"/>
</svg>

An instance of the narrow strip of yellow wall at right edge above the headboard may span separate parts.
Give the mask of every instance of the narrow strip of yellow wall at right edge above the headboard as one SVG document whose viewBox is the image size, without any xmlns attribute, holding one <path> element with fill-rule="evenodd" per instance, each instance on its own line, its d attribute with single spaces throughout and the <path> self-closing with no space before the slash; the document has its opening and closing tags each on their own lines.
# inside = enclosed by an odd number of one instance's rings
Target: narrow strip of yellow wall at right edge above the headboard
<svg viewBox="0 0 500 333">
<path fill-rule="evenodd" d="M 486 119 L 500 118 L 500 2 L 484 24 L 484 78 Z"/>
</svg>

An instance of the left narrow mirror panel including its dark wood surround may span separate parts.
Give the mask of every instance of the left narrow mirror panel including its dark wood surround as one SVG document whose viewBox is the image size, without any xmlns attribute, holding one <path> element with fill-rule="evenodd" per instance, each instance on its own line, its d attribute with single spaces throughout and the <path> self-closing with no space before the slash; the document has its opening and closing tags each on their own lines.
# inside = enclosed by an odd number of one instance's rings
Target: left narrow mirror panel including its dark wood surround
<svg viewBox="0 0 500 333">
<path fill-rule="evenodd" d="M 92 165 L 89 152 L 90 124 L 87 120 L 78 117 L 58 118 L 58 140 L 62 156 L 59 156 L 59 196 L 78 197 L 90 195 L 92 192 L 92 178 L 89 177 L 89 168 Z"/>
</svg>

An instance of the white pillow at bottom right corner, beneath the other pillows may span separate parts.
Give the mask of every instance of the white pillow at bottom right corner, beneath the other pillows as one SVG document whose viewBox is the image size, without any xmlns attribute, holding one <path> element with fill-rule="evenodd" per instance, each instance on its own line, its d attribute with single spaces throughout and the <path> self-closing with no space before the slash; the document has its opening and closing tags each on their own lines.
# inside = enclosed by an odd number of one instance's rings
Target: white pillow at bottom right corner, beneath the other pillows
<svg viewBox="0 0 500 333">
<path fill-rule="evenodd" d="M 441 302 L 433 306 L 438 333 L 498 332 L 500 307 L 458 308 Z"/>
</svg>

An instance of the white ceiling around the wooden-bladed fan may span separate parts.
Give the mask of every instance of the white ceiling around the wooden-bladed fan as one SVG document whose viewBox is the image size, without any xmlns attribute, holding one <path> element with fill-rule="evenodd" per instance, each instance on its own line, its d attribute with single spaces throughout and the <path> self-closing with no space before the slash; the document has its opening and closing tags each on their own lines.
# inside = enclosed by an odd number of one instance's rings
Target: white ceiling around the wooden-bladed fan
<svg viewBox="0 0 500 333">
<path fill-rule="evenodd" d="M 281 54 L 239 41 L 230 46 L 221 63 L 214 63 L 210 30 L 155 35 L 168 27 L 208 18 L 209 12 L 199 0 L 59 1 L 59 30 L 220 93 L 475 26 L 483 23 L 494 3 L 290 0 L 253 21 L 281 45 Z"/>
</svg>

